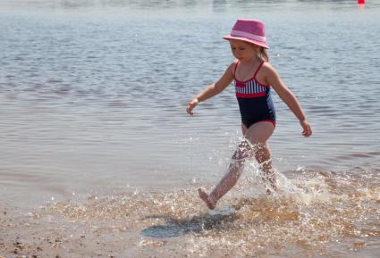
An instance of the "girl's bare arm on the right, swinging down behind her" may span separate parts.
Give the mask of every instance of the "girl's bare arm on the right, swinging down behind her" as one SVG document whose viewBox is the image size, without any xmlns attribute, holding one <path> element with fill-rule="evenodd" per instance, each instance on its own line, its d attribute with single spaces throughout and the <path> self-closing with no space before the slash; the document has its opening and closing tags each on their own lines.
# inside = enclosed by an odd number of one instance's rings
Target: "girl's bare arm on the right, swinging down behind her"
<svg viewBox="0 0 380 258">
<path fill-rule="evenodd" d="M 285 86 L 283 80 L 280 78 L 277 71 L 274 70 L 270 64 L 266 65 L 266 81 L 272 86 L 275 92 L 280 96 L 285 104 L 291 109 L 291 112 L 300 120 L 300 125 L 303 129 L 302 135 L 309 137 L 312 134 L 311 126 L 308 123 L 305 113 L 300 107 L 300 103 L 297 97 L 291 92 L 291 90 Z"/>
</svg>

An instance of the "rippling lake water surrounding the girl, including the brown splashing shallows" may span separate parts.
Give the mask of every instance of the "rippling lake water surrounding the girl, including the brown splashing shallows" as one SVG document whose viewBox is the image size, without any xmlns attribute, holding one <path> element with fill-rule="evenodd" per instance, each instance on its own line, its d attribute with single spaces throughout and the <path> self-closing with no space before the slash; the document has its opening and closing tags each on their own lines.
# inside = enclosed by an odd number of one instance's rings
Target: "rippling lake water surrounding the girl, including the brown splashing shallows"
<svg viewBox="0 0 380 258">
<path fill-rule="evenodd" d="M 257 2 L 2 1 L 0 254 L 376 257 L 380 5 Z M 248 166 L 209 213 L 194 190 L 224 174 L 238 106 L 233 87 L 185 106 L 232 62 L 237 17 L 266 22 L 314 135 L 274 95 L 283 193 Z"/>
</svg>

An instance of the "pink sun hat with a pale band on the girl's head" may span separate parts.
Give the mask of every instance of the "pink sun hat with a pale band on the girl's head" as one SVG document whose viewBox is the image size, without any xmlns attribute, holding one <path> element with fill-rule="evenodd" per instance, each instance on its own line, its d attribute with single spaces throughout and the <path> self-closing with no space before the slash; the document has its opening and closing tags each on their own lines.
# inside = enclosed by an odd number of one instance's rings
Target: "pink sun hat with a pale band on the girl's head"
<svg viewBox="0 0 380 258">
<path fill-rule="evenodd" d="M 238 19 L 231 30 L 230 35 L 224 39 L 239 39 L 258 46 L 269 48 L 266 44 L 266 26 L 263 21 Z"/>
</svg>

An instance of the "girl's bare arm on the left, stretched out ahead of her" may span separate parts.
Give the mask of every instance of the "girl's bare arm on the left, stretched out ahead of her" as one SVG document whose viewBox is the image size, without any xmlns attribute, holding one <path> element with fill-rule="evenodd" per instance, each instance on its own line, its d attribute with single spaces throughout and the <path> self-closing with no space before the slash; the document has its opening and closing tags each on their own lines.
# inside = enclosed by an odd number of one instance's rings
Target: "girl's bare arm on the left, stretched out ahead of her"
<svg viewBox="0 0 380 258">
<path fill-rule="evenodd" d="M 224 88 L 230 85 L 233 79 L 233 68 L 234 68 L 235 62 L 232 62 L 232 64 L 227 68 L 226 71 L 224 71 L 224 75 L 218 79 L 214 84 L 211 84 L 207 87 L 205 87 L 199 94 L 192 99 L 188 106 L 186 107 L 186 112 L 189 114 L 194 114 L 192 110 L 196 107 L 196 105 L 201 102 L 205 101 L 219 93 L 221 93 Z"/>
</svg>

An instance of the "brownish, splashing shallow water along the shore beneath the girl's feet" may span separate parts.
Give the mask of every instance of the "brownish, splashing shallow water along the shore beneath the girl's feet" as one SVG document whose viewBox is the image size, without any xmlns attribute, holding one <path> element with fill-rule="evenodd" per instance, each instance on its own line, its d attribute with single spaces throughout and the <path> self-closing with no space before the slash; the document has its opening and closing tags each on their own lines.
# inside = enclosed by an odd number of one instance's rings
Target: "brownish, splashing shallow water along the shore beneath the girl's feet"
<svg viewBox="0 0 380 258">
<path fill-rule="evenodd" d="M 48 239 L 52 250 L 63 256 L 78 245 L 87 256 L 104 254 L 105 246 L 112 246 L 108 251 L 114 254 L 134 257 L 377 254 L 380 185 L 373 179 L 378 175 L 295 171 L 297 177 L 291 179 L 291 174 L 286 178 L 277 172 L 282 190 L 267 196 L 263 180 L 254 179 L 261 176 L 254 164 L 245 172 L 213 212 L 198 199 L 195 186 L 75 195 L 30 212 L 18 225 L 5 228 L 6 239 L 16 239 L 17 232 L 38 225 L 23 237 L 23 250 L 46 246 Z M 2 225 L 9 224 L 1 220 Z M 48 234 L 57 236 L 58 242 Z"/>
</svg>

